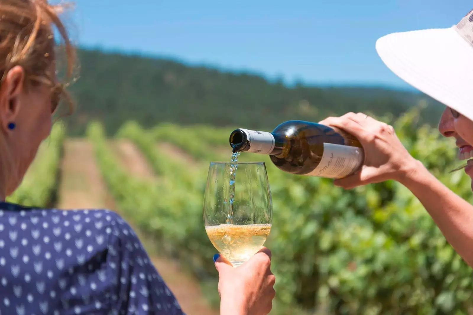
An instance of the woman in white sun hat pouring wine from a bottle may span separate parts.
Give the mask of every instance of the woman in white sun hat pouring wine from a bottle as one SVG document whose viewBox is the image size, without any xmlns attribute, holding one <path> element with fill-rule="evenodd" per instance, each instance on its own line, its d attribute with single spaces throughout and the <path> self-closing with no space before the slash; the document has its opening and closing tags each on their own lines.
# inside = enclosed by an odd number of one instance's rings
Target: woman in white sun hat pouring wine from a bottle
<svg viewBox="0 0 473 315">
<path fill-rule="evenodd" d="M 396 75 L 447 105 L 438 129 L 455 137 L 459 158 L 473 157 L 473 10 L 450 28 L 389 34 L 376 49 Z M 329 117 L 321 123 L 345 129 L 365 149 L 365 165 L 335 180 L 352 188 L 394 179 L 409 188 L 447 241 L 473 267 L 473 205 L 444 186 L 403 147 L 393 127 L 363 113 Z M 473 159 L 464 169 L 473 178 Z M 473 185 L 472 185 L 473 189 Z"/>
</svg>

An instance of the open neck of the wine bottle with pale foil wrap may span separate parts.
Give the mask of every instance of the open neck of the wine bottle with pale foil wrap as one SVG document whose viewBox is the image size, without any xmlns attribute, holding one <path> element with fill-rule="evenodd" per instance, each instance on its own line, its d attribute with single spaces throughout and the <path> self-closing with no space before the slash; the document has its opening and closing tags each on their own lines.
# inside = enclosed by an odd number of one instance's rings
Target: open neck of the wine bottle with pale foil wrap
<svg viewBox="0 0 473 315">
<path fill-rule="evenodd" d="M 234 150 L 259 154 L 280 154 L 284 147 L 285 139 L 271 132 L 236 129 L 230 135 L 230 144 Z"/>
</svg>

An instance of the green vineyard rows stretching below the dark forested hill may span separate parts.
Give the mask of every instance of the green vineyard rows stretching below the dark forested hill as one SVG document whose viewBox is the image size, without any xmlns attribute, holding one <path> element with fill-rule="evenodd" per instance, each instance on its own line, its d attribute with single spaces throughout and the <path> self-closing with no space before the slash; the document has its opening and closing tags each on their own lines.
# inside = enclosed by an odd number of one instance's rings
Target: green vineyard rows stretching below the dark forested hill
<svg viewBox="0 0 473 315">
<path fill-rule="evenodd" d="M 418 115 L 413 109 L 389 122 L 414 157 L 473 201 L 469 178 L 446 172 L 455 165 L 455 145 L 437 130 L 417 126 Z M 230 159 L 231 130 L 173 124 L 143 129 L 130 121 L 110 138 L 100 122 L 92 122 L 87 138 L 79 139 L 90 148 L 89 159 L 81 161 L 95 163 L 105 187 L 96 207 L 114 207 L 153 255 L 178 261 L 212 306 L 219 302 L 216 250 L 205 233 L 202 200 L 209 162 Z M 58 204 L 62 182 L 69 180 L 61 160 L 79 141 L 64 135 L 56 123 L 9 201 Z M 243 153 L 239 160 L 264 161 L 268 170 L 273 224 L 265 246 L 277 277 L 271 314 L 468 314 L 473 307 L 471 269 L 405 187 L 388 181 L 345 191 L 329 179 L 283 173 L 266 156 Z M 188 309 L 188 315 L 199 314 Z"/>
</svg>

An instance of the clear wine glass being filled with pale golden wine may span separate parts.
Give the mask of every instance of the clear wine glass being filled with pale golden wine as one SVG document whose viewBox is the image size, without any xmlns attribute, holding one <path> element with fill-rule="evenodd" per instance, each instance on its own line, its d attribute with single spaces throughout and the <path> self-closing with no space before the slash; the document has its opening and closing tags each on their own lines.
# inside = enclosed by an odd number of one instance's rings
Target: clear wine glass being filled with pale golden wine
<svg viewBox="0 0 473 315">
<path fill-rule="evenodd" d="M 272 224 L 264 162 L 211 162 L 203 215 L 210 241 L 234 267 L 256 254 Z"/>
</svg>

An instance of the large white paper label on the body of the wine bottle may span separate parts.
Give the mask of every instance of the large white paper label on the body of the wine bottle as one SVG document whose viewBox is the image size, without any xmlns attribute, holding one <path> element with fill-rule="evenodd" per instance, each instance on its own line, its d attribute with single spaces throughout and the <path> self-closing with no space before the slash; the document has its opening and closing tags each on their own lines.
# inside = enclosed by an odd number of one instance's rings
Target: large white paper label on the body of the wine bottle
<svg viewBox="0 0 473 315">
<path fill-rule="evenodd" d="M 322 160 L 306 175 L 340 179 L 350 175 L 363 161 L 363 152 L 358 147 L 324 143 Z"/>
</svg>

